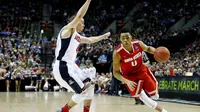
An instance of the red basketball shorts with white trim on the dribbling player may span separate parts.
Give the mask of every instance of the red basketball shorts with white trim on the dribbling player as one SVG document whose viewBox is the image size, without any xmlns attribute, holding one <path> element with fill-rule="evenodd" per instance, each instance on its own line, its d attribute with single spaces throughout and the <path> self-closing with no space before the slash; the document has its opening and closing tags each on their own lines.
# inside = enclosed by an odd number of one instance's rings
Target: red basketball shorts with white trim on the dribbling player
<svg viewBox="0 0 200 112">
<path fill-rule="evenodd" d="M 150 96 L 158 93 L 158 82 L 146 65 L 141 65 L 140 69 L 135 73 L 129 75 L 123 74 L 123 77 L 137 83 L 134 91 L 131 91 L 125 84 L 129 93 L 134 97 L 138 97 L 142 89 Z"/>
</svg>

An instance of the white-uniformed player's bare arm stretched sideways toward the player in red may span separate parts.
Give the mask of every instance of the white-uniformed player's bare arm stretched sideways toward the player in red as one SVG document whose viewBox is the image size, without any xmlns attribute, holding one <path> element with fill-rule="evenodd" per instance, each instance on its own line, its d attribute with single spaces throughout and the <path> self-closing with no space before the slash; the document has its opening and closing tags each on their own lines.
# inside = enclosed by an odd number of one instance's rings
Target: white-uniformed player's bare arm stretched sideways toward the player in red
<svg viewBox="0 0 200 112">
<path fill-rule="evenodd" d="M 105 33 L 103 35 L 100 36 L 93 36 L 93 37 L 83 37 L 81 36 L 81 43 L 82 44 L 92 44 L 92 43 L 96 43 L 99 42 L 103 39 L 108 39 L 108 37 L 110 36 L 110 32 Z"/>
</svg>

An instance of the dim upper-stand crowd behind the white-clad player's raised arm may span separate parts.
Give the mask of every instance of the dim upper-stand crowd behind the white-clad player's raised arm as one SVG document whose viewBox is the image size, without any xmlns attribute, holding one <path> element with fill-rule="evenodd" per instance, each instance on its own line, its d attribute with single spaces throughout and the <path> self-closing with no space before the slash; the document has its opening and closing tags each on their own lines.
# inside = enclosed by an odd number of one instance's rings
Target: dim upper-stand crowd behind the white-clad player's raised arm
<svg viewBox="0 0 200 112">
<path fill-rule="evenodd" d="M 80 0 L 74 3 L 73 0 L 68 0 L 68 4 L 63 1 L 58 2 L 53 6 L 52 18 L 60 21 L 64 19 L 64 24 L 69 23 L 70 17 L 77 12 L 79 7 L 84 3 L 84 0 Z M 128 11 L 135 5 L 138 0 L 134 1 L 121 1 L 115 0 L 115 2 L 108 3 L 106 0 L 94 0 L 92 1 L 89 10 L 84 17 L 85 29 L 84 34 L 86 36 L 100 34 L 113 20 L 120 20 L 126 17 Z"/>
</svg>

